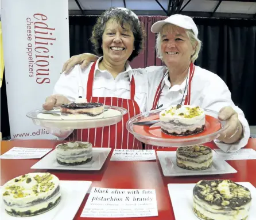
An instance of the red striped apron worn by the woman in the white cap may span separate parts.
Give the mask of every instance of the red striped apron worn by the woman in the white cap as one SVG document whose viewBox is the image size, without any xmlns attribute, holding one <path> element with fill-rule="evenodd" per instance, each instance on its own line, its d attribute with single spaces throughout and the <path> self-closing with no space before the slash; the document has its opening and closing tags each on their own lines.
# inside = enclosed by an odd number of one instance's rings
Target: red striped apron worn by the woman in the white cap
<svg viewBox="0 0 256 220">
<path fill-rule="evenodd" d="M 193 78 L 193 75 L 195 73 L 195 65 L 191 62 L 190 66 L 189 66 L 189 75 L 188 75 L 188 89 L 187 89 L 187 95 L 185 97 L 185 102 L 184 105 L 190 105 L 190 100 L 191 100 L 191 81 Z M 157 91 L 156 91 L 156 95 L 154 96 L 154 102 L 153 102 L 153 106 L 151 110 L 157 109 L 157 104 L 158 101 L 160 99 L 160 95 L 162 92 L 162 89 L 164 88 L 164 86 L 162 86 L 162 81 L 164 80 L 165 74 L 161 79 L 161 82 L 159 84 L 159 86 L 157 87 Z M 185 90 L 186 90 L 187 85 L 185 86 Z M 185 93 L 184 90 L 184 93 Z M 146 145 L 145 149 L 158 149 L 160 148 L 159 146 L 154 146 L 154 145 Z"/>
</svg>

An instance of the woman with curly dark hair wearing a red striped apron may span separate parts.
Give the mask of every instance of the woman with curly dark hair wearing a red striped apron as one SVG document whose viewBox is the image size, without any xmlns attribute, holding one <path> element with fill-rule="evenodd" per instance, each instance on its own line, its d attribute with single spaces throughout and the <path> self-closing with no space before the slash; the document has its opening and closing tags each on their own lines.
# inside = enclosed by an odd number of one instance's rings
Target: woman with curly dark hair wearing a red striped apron
<svg viewBox="0 0 256 220">
<path fill-rule="evenodd" d="M 83 129 L 56 134 L 72 141 L 88 141 L 96 147 L 141 149 L 141 142 L 126 130 L 129 118 L 139 114 L 146 105 L 146 86 L 142 74 L 134 74 L 129 63 L 137 57 L 143 45 L 143 27 L 137 15 L 124 8 L 105 11 L 96 22 L 91 42 L 100 58 L 86 69 L 75 66 L 62 74 L 44 109 L 86 97 L 88 102 L 124 107 L 129 111 L 117 125 Z"/>
</svg>

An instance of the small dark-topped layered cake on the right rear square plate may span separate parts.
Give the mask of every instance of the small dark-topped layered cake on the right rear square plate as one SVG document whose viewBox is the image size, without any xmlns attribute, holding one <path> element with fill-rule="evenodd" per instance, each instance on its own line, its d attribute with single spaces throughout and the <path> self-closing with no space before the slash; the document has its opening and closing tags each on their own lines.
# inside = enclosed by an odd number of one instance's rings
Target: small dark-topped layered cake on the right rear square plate
<svg viewBox="0 0 256 220">
<path fill-rule="evenodd" d="M 176 151 L 177 166 L 188 170 L 205 170 L 212 166 L 212 149 L 203 145 L 183 146 Z"/>
</svg>

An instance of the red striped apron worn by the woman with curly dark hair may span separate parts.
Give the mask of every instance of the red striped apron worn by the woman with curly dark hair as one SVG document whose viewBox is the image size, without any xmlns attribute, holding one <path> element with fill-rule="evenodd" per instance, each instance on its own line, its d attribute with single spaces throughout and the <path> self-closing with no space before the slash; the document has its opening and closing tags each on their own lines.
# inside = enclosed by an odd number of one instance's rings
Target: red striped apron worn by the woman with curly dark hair
<svg viewBox="0 0 256 220">
<path fill-rule="evenodd" d="M 126 129 L 126 122 L 135 115 L 141 113 L 138 104 L 134 101 L 135 82 L 132 76 L 130 82 L 130 99 L 117 97 L 92 97 L 92 86 L 94 83 L 94 71 L 96 62 L 91 67 L 87 81 L 87 101 L 99 102 L 104 105 L 123 107 L 128 110 L 123 115 L 122 121 L 115 125 L 97 127 L 96 129 L 79 129 L 73 132 L 73 141 L 88 141 L 95 147 L 113 147 L 114 149 L 142 149 L 142 143 L 139 142 L 133 134 Z"/>
</svg>

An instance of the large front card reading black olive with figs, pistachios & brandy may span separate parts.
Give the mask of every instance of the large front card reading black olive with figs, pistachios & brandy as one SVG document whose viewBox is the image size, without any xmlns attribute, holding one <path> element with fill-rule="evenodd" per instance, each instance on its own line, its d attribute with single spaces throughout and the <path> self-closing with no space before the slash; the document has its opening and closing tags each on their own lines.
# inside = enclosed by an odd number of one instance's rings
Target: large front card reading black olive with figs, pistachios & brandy
<svg viewBox="0 0 256 220">
<path fill-rule="evenodd" d="M 127 218 L 158 216 L 156 190 L 92 187 L 81 217 Z"/>
</svg>

